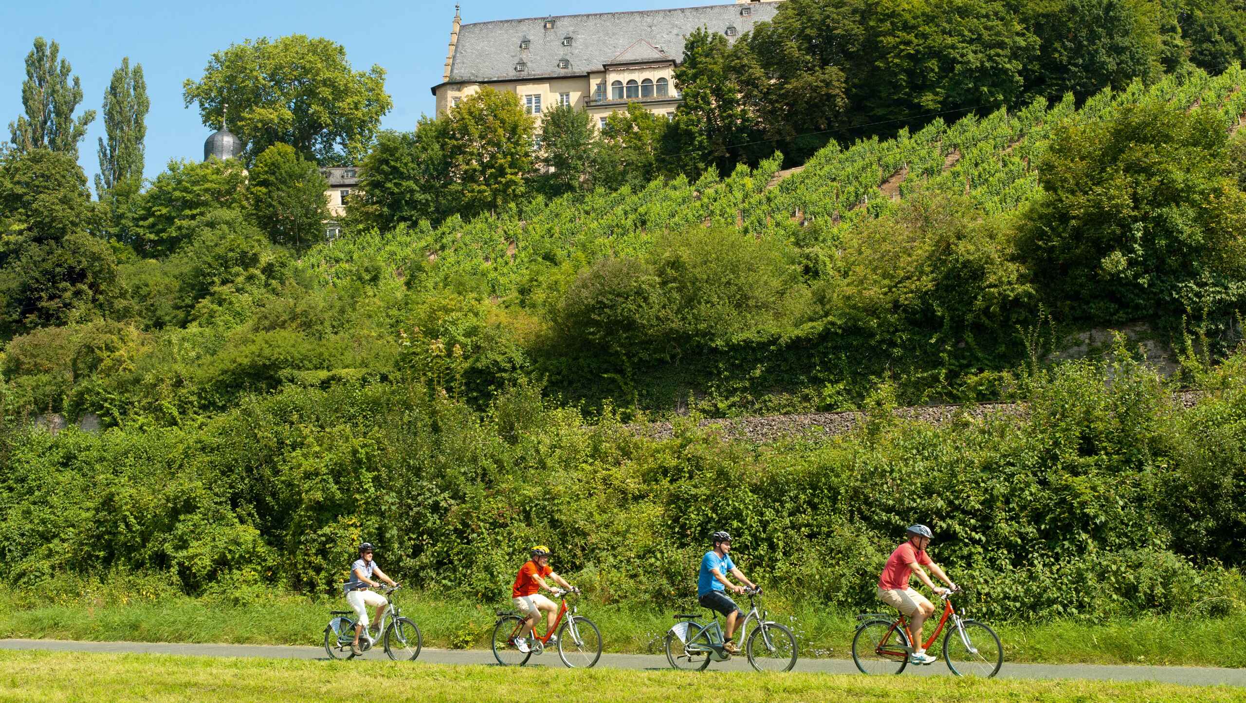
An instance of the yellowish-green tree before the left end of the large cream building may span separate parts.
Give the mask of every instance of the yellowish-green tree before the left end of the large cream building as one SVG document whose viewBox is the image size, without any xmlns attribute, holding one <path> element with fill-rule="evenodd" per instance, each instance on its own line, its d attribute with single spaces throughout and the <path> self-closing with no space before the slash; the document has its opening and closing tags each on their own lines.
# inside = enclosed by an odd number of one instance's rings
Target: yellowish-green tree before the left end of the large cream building
<svg viewBox="0 0 1246 703">
<path fill-rule="evenodd" d="M 465 214 L 497 209 L 523 196 L 536 167 L 536 120 L 525 115 L 517 95 L 486 86 L 440 118 L 447 121 L 447 188 Z"/>
</svg>

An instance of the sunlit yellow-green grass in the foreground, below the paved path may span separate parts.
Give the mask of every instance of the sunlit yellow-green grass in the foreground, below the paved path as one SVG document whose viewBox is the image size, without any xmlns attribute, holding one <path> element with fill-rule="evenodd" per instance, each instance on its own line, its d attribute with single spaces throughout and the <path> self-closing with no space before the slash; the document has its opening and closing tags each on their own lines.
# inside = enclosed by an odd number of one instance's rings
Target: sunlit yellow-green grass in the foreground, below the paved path
<svg viewBox="0 0 1246 703">
<path fill-rule="evenodd" d="M 0 701 L 895 701 L 895 679 L 811 673 L 689 673 L 308 662 L 162 654 L 0 651 Z M 936 702 L 1241 701 L 1229 687 L 1148 682 L 908 678 L 906 698 Z"/>
</svg>

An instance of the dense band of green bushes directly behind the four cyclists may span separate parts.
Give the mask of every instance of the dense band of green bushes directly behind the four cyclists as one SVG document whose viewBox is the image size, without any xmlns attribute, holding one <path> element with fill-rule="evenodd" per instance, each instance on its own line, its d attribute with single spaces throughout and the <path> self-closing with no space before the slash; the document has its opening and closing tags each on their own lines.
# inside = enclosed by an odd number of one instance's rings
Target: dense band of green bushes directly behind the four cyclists
<svg viewBox="0 0 1246 703">
<path fill-rule="evenodd" d="M 1244 597 L 1246 393 L 1231 379 L 1246 356 L 1209 375 L 1230 390 L 1189 411 L 1119 356 L 1024 379 L 1024 418 L 934 428 L 883 404 L 855 434 L 770 446 L 690 421 L 665 441 L 612 415 L 586 426 L 528 383 L 480 414 L 427 383 L 429 364 L 402 365 L 397 383 L 290 386 L 197 426 L 7 429 L 0 577 L 125 570 L 189 593 L 257 578 L 331 593 L 369 540 L 391 575 L 496 601 L 546 542 L 607 602 L 672 605 L 725 528 L 754 580 L 872 607 L 882 561 L 921 521 L 989 617 L 1222 612 Z"/>
</svg>

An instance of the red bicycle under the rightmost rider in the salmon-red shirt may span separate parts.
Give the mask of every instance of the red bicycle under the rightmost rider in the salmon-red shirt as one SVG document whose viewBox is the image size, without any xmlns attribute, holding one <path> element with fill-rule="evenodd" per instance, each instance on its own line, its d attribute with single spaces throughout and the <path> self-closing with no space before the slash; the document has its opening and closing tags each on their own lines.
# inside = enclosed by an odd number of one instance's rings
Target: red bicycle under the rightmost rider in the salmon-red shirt
<svg viewBox="0 0 1246 703">
<path fill-rule="evenodd" d="M 999 673 L 1004 663 L 1003 646 L 999 636 L 986 623 L 969 619 L 964 611 L 952 607 L 951 593 L 942 593 L 943 617 L 938 621 L 934 633 L 926 641 L 923 649 L 930 649 L 943 626 L 951 619 L 943 638 L 943 661 L 956 676 L 977 676 L 991 678 Z M 862 621 L 852 636 L 852 661 L 865 674 L 898 674 L 908 666 L 908 654 L 913 641 L 905 616 L 892 618 L 886 613 L 858 615 Z"/>
</svg>

